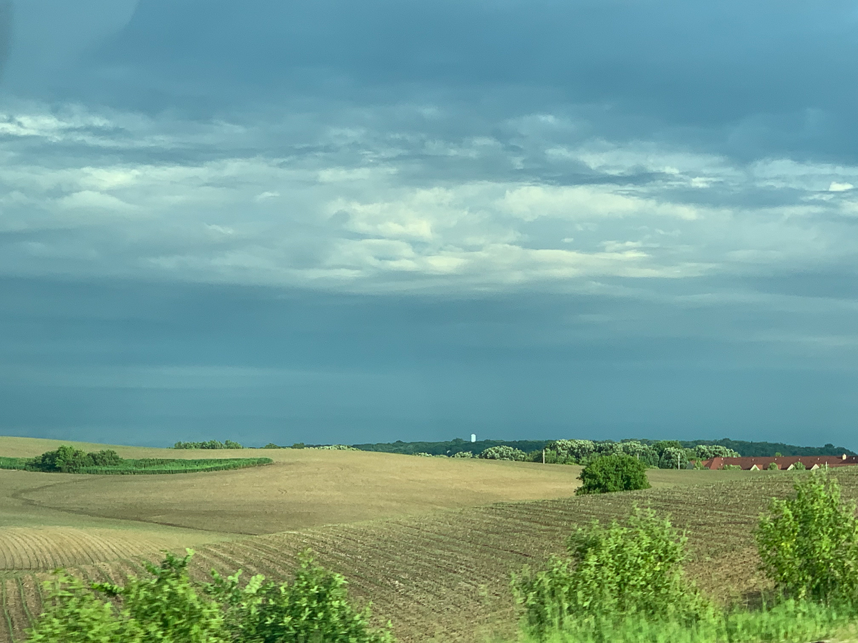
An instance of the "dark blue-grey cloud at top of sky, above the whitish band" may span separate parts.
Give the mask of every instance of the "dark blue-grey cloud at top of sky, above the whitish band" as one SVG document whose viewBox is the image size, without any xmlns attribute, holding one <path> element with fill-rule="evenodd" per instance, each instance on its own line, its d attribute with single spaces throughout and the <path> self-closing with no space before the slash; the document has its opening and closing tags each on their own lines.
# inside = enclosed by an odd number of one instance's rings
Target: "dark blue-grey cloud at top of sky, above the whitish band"
<svg viewBox="0 0 858 643">
<path fill-rule="evenodd" d="M 490 120 L 602 105 L 621 135 L 682 128 L 732 152 L 843 158 L 855 142 L 856 22 L 839 0 L 142 0 L 72 83 L 120 105 L 208 113 L 296 93 L 464 100 L 466 121 L 474 104 Z M 741 140 L 719 140 L 723 128 Z"/>
</svg>

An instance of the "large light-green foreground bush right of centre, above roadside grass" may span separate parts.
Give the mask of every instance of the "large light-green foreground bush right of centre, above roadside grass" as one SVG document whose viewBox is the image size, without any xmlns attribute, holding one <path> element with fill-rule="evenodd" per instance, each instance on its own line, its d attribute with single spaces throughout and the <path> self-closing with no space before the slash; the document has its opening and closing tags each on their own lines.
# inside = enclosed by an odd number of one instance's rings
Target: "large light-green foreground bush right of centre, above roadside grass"
<svg viewBox="0 0 858 643">
<path fill-rule="evenodd" d="M 552 631 L 587 625 L 612 627 L 629 616 L 686 625 L 714 615 L 711 604 L 685 580 L 686 538 L 669 520 L 635 508 L 628 526 L 594 521 L 568 541 L 568 558 L 514 574 L 523 627 L 544 639 Z"/>
</svg>

